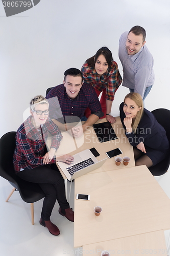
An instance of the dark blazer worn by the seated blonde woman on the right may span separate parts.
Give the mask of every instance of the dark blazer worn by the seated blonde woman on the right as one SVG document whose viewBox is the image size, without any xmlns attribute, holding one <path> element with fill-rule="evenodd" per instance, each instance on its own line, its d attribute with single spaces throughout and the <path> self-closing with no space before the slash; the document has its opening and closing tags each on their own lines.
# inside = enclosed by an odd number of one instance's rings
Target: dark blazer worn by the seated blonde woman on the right
<svg viewBox="0 0 170 256">
<path fill-rule="evenodd" d="M 123 106 L 124 102 L 120 104 L 119 111 L 120 119 L 126 130 L 126 126 L 124 125 L 124 118 L 126 116 Z M 164 128 L 157 122 L 155 116 L 146 109 L 143 111 L 143 116 L 138 124 L 136 134 L 132 132 L 126 136 L 132 146 L 136 146 L 142 141 L 145 145 L 157 150 L 166 150 L 169 148 L 169 142 Z"/>
</svg>

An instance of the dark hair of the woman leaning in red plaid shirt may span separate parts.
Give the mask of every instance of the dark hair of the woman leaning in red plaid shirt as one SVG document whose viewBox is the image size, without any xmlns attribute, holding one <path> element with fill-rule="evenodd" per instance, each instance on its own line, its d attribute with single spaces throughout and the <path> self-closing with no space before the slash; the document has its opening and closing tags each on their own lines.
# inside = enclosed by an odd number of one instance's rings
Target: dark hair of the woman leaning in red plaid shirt
<svg viewBox="0 0 170 256">
<path fill-rule="evenodd" d="M 95 66 L 95 62 L 97 61 L 98 57 L 100 55 L 103 55 L 108 63 L 108 68 L 111 67 L 112 65 L 112 61 L 113 61 L 113 56 L 112 56 L 112 53 L 111 51 L 107 48 L 107 47 L 102 47 L 100 48 L 96 54 L 94 56 L 92 56 L 91 58 L 87 59 L 86 62 L 88 63 L 88 66 L 90 67 L 94 67 Z"/>
</svg>

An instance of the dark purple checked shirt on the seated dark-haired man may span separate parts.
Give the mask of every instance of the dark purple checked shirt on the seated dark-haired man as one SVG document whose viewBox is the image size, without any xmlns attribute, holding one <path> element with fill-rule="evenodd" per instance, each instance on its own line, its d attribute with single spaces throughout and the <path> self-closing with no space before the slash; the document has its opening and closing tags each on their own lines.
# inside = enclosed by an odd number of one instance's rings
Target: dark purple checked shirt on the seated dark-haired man
<svg viewBox="0 0 170 256">
<path fill-rule="evenodd" d="M 73 116 L 82 118 L 86 108 L 91 110 L 91 114 L 99 117 L 103 116 L 102 108 L 95 90 L 86 83 L 80 89 L 75 99 L 70 99 L 66 93 L 64 84 L 54 87 L 46 95 L 50 105 L 50 117 L 59 119 L 61 117 Z"/>
</svg>

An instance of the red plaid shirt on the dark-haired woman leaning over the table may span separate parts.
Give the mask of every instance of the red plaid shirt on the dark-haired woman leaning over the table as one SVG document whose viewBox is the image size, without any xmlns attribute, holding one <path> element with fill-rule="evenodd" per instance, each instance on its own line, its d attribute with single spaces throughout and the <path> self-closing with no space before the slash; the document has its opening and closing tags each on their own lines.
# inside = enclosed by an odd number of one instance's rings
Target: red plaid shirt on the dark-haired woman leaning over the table
<svg viewBox="0 0 170 256">
<path fill-rule="evenodd" d="M 91 86 L 100 92 L 106 88 L 105 98 L 111 101 L 114 100 L 114 94 L 120 83 L 122 83 L 122 77 L 115 61 L 112 62 L 111 67 L 102 76 L 99 76 L 94 68 L 89 67 L 87 62 L 84 63 L 81 71 L 84 82 L 91 84 Z"/>
</svg>

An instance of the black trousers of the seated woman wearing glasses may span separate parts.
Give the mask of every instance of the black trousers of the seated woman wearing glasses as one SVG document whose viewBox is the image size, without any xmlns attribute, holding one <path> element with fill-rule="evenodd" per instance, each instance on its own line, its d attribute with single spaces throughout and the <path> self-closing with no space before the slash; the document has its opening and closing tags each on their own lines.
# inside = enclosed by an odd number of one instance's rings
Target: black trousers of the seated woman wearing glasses
<svg viewBox="0 0 170 256">
<path fill-rule="evenodd" d="M 69 203 L 65 197 L 64 180 L 57 170 L 56 164 L 46 164 L 31 170 L 21 170 L 17 175 L 23 180 L 38 183 L 44 191 L 45 198 L 41 212 L 41 218 L 44 221 L 50 220 L 56 200 L 62 209 L 69 208 Z"/>
</svg>

